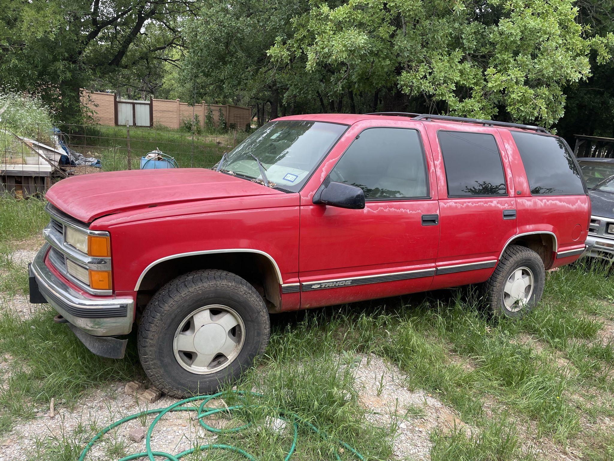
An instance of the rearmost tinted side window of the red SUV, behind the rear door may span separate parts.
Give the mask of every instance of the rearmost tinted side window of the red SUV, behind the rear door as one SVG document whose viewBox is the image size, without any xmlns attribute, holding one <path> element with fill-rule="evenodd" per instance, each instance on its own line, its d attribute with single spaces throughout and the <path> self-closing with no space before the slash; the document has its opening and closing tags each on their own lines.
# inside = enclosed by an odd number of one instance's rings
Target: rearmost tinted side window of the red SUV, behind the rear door
<svg viewBox="0 0 614 461">
<path fill-rule="evenodd" d="M 583 195 L 580 171 L 561 138 L 511 131 L 532 195 Z"/>
</svg>

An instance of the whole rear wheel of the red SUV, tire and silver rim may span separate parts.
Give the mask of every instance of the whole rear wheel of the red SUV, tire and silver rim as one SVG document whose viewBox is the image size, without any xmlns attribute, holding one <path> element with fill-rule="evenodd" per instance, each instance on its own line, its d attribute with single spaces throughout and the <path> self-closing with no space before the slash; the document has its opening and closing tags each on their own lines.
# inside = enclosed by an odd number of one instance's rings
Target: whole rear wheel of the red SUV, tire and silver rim
<svg viewBox="0 0 614 461">
<path fill-rule="evenodd" d="M 497 317 L 521 317 L 542 298 L 545 278 L 542 258 L 535 251 L 510 245 L 482 285 L 484 299 Z"/>
</svg>

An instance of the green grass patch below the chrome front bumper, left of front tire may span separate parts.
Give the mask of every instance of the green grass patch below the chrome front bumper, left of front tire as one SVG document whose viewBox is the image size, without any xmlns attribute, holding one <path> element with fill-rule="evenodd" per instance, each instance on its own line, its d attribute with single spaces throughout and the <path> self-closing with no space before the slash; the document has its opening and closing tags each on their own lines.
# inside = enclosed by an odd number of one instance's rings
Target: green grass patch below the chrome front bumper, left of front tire
<svg viewBox="0 0 614 461">
<path fill-rule="evenodd" d="M 0 299 L 0 353 L 8 355 L 10 374 L 0 388 L 0 408 L 29 417 L 51 398 L 73 404 L 91 387 L 141 376 L 134 339 L 124 360 L 91 354 L 66 325 L 53 323 L 48 307 L 21 320 Z"/>
</svg>

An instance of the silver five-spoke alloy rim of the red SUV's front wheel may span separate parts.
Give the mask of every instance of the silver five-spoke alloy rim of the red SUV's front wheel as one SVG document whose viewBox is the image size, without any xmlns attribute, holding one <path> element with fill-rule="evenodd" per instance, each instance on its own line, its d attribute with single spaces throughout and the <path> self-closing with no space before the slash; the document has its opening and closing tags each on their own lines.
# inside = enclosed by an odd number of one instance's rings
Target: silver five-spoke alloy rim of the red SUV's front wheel
<svg viewBox="0 0 614 461">
<path fill-rule="evenodd" d="M 182 320 L 173 339 L 179 364 L 196 374 L 226 368 L 243 349 L 245 325 L 241 316 L 221 304 L 196 309 Z"/>
</svg>

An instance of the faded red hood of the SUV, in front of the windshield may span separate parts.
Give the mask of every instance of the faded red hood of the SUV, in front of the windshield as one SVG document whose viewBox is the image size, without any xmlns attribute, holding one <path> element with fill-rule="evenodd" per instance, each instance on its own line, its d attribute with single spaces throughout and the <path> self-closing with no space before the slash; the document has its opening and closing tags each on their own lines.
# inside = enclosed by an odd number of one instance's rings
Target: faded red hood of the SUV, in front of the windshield
<svg viewBox="0 0 614 461">
<path fill-rule="evenodd" d="M 126 209 L 194 200 L 284 194 L 262 184 L 204 168 L 113 171 L 72 176 L 45 198 L 84 223 Z"/>
</svg>

